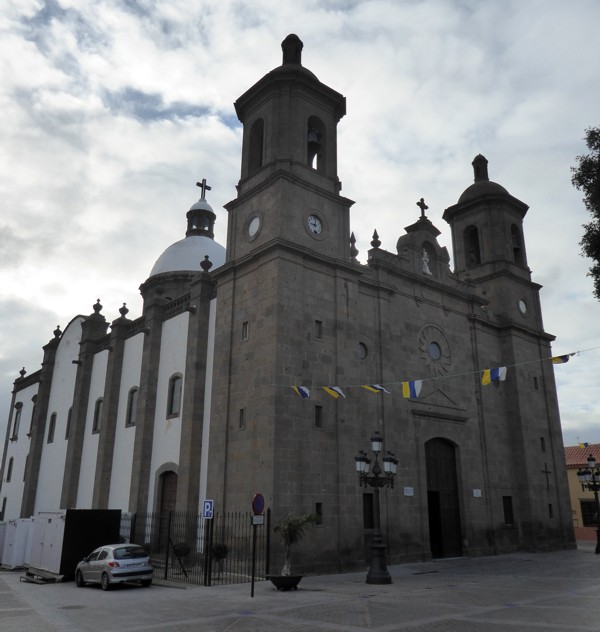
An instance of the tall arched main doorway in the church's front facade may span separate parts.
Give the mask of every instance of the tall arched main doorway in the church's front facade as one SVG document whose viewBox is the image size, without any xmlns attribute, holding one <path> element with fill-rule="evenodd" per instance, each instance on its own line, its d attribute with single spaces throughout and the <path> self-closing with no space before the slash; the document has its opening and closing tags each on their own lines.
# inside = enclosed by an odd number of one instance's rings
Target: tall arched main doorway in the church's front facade
<svg viewBox="0 0 600 632">
<path fill-rule="evenodd" d="M 431 439 L 425 444 L 425 460 L 431 555 L 462 555 L 456 449 L 446 439 Z"/>
</svg>

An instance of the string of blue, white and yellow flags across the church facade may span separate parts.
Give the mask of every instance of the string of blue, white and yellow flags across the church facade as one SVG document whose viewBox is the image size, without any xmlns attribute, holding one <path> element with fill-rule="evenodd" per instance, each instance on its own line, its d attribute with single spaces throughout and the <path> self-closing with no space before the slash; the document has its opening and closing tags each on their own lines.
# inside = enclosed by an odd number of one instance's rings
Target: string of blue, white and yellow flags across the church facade
<svg viewBox="0 0 600 632">
<path fill-rule="evenodd" d="M 581 353 L 587 353 L 588 351 L 595 351 L 597 349 L 600 349 L 599 347 L 591 347 L 589 349 L 582 349 L 580 351 L 573 351 L 571 353 L 566 353 L 564 355 L 559 355 L 559 356 L 549 356 L 546 358 L 538 358 L 536 360 L 528 360 L 527 362 L 520 362 L 517 364 L 511 364 L 511 365 L 507 365 L 507 366 L 501 366 L 501 367 L 495 367 L 495 368 L 491 368 L 491 369 L 478 369 L 476 371 L 466 371 L 464 373 L 453 373 L 450 375 L 443 375 L 443 376 L 437 376 L 437 377 L 431 377 L 431 378 L 424 378 L 421 380 L 403 380 L 403 381 L 397 381 L 397 382 L 385 382 L 385 383 L 373 383 L 373 384 L 346 384 L 343 386 L 344 389 L 352 389 L 352 388 L 363 388 L 371 393 L 386 393 L 386 394 L 390 394 L 390 391 L 387 390 L 386 386 L 392 387 L 392 386 L 397 386 L 400 385 L 401 389 L 402 389 L 402 396 L 404 398 L 407 399 L 415 399 L 418 398 L 420 393 L 421 393 L 421 389 L 423 387 L 423 383 L 424 382 L 433 382 L 433 381 L 438 381 L 438 380 L 448 380 L 451 378 L 455 378 L 455 377 L 465 377 L 465 376 L 469 376 L 469 375 L 473 375 L 473 374 L 480 374 L 481 375 L 481 384 L 483 386 L 486 386 L 488 384 L 493 384 L 493 383 L 498 383 L 498 382 L 504 382 L 506 381 L 506 376 L 508 373 L 508 369 L 509 368 L 516 368 L 516 367 L 520 367 L 520 366 L 526 366 L 529 364 L 535 364 L 538 362 L 544 362 L 549 360 L 552 364 L 565 364 L 567 363 L 573 356 L 578 356 Z M 281 387 L 281 388 L 291 388 L 294 393 L 296 393 L 296 395 L 298 395 L 299 397 L 301 397 L 302 399 L 310 399 L 310 388 L 308 386 L 286 386 L 283 384 L 274 384 L 273 386 L 277 386 L 277 387 Z M 331 397 L 333 397 L 334 399 L 339 399 L 340 397 L 345 399 L 346 395 L 344 394 L 343 390 L 342 390 L 342 386 L 315 386 L 314 384 L 311 385 L 311 388 L 321 388 L 323 389 L 328 395 L 330 395 Z"/>
</svg>

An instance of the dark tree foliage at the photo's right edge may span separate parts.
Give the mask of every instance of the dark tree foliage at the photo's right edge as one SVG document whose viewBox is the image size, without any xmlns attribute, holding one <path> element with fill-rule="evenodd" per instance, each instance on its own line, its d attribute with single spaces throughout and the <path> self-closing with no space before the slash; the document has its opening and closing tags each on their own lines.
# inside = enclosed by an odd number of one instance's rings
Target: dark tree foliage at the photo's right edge
<svg viewBox="0 0 600 632">
<path fill-rule="evenodd" d="M 581 253 L 592 260 L 588 274 L 594 282 L 594 296 L 600 300 L 600 127 L 588 127 L 584 140 L 590 153 L 577 156 L 571 182 L 583 191 L 583 203 L 592 216 L 592 221 L 583 225 L 579 245 Z"/>
</svg>

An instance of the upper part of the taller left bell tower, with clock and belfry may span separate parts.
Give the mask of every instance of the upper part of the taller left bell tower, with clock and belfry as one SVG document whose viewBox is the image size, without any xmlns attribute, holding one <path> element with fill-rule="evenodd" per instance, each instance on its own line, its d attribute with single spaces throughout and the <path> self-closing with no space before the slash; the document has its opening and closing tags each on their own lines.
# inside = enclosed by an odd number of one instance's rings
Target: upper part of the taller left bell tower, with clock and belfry
<svg viewBox="0 0 600 632">
<path fill-rule="evenodd" d="M 235 102 L 244 126 L 238 196 L 229 211 L 228 261 L 272 240 L 349 260 L 349 208 L 337 175 L 337 124 L 346 99 L 302 66 L 288 35 L 283 61 Z"/>
</svg>

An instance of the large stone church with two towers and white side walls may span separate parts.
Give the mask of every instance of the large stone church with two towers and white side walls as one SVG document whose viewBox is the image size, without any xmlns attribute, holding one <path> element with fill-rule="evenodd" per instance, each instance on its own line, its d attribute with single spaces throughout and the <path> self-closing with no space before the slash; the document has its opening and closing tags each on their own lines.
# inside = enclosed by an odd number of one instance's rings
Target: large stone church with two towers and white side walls
<svg viewBox="0 0 600 632">
<path fill-rule="evenodd" d="M 374 492 L 354 457 L 377 431 L 398 462 L 381 490 L 390 562 L 573 546 L 528 206 L 478 155 L 443 215 L 453 270 L 422 199 L 396 252 L 375 233 L 360 263 L 337 171 L 346 100 L 302 46 L 288 36 L 235 102 L 226 246 L 204 180 L 140 286 L 142 315 L 109 322 L 98 301 L 14 382 L 1 519 L 248 511 L 260 492 L 275 521 L 318 515 L 302 571 L 357 568 Z"/>
</svg>

